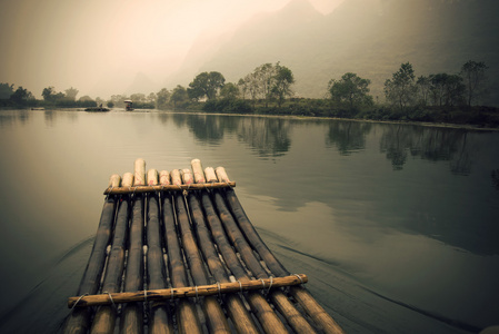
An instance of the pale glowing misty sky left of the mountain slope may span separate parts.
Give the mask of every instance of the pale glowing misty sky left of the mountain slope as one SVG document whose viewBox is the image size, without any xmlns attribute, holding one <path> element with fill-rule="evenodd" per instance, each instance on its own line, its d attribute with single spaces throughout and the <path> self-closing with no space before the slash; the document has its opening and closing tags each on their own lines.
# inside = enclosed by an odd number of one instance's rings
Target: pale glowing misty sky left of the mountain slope
<svg viewBox="0 0 499 334">
<path fill-rule="evenodd" d="M 0 82 L 22 86 L 37 98 L 48 86 L 108 98 L 138 72 L 161 84 L 196 39 L 230 33 L 289 1 L 2 0 Z M 310 0 L 322 13 L 341 1 Z M 103 82 L 116 87 L 96 91 Z"/>
</svg>

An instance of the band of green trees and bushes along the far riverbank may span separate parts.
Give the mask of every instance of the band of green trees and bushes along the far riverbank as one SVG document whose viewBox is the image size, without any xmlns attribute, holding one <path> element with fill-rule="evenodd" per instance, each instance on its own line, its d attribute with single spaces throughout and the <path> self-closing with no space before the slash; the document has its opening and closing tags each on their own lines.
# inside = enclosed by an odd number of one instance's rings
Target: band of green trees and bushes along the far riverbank
<svg viewBox="0 0 499 334">
<path fill-rule="evenodd" d="M 186 88 L 162 88 L 158 92 L 113 95 L 110 99 L 76 99 L 78 89 L 58 92 L 44 88 L 43 100 L 34 99 L 27 89 L 0 84 L 0 108 L 86 108 L 106 106 L 124 108 L 133 100 L 136 110 L 159 109 L 202 111 L 208 114 L 291 116 L 363 121 L 405 122 L 436 126 L 499 129 L 499 108 L 481 106 L 489 87 L 488 67 L 483 62 L 467 61 L 459 73 L 436 73 L 416 77 L 410 62 L 401 63 L 398 71 L 385 82 L 385 99 L 369 95 L 369 79 L 353 72 L 331 79 L 325 98 L 296 97 L 292 71 L 280 62 L 263 63 L 239 79 L 226 82 L 217 71 L 201 72 Z M 99 107 L 98 107 L 99 106 Z M 104 107 L 104 108 L 106 108 Z"/>
</svg>

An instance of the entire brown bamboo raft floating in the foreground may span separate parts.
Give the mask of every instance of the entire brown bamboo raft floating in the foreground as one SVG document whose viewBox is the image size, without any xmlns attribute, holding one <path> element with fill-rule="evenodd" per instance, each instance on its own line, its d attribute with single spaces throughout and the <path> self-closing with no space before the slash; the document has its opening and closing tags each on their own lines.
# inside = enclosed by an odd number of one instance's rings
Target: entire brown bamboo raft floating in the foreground
<svg viewBox="0 0 499 334">
<path fill-rule="evenodd" d="M 63 333 L 343 333 L 262 242 L 223 167 L 112 175 Z"/>
</svg>

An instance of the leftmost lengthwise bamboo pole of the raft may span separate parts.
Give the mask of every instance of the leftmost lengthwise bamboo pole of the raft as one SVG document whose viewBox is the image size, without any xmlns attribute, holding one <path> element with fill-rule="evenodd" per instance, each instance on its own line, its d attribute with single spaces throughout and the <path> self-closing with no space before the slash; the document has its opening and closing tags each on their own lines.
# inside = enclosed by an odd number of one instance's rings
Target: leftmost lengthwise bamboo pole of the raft
<svg viewBox="0 0 499 334">
<path fill-rule="evenodd" d="M 110 186 L 112 187 L 116 185 L 117 178 L 116 176 L 112 176 Z M 106 264 L 106 248 L 108 247 L 111 237 L 111 228 L 114 220 L 116 203 L 117 198 L 110 196 L 106 198 L 102 206 L 93 248 L 90 253 L 90 258 L 77 293 L 80 296 L 84 294 L 96 294 L 99 289 L 102 271 Z M 91 310 L 74 308 L 66 321 L 63 332 L 71 334 L 87 333 L 90 326 L 90 316 Z"/>
</svg>

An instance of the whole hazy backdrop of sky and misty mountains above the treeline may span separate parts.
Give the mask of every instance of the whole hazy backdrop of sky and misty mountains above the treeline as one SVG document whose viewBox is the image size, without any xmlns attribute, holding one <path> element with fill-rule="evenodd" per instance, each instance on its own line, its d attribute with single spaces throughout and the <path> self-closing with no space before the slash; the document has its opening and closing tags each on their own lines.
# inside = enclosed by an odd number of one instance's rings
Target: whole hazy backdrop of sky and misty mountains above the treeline
<svg viewBox="0 0 499 334">
<path fill-rule="evenodd" d="M 356 72 L 383 99 L 400 63 L 416 76 L 458 73 L 468 60 L 499 85 L 496 0 L 47 0 L 0 3 L 0 82 L 37 98 L 43 88 L 82 96 L 149 95 L 202 71 L 227 82 L 265 62 L 289 67 L 296 97 L 321 98 Z M 14 88 L 14 89 L 16 89 Z M 490 89 L 483 104 L 499 106 Z"/>
</svg>

